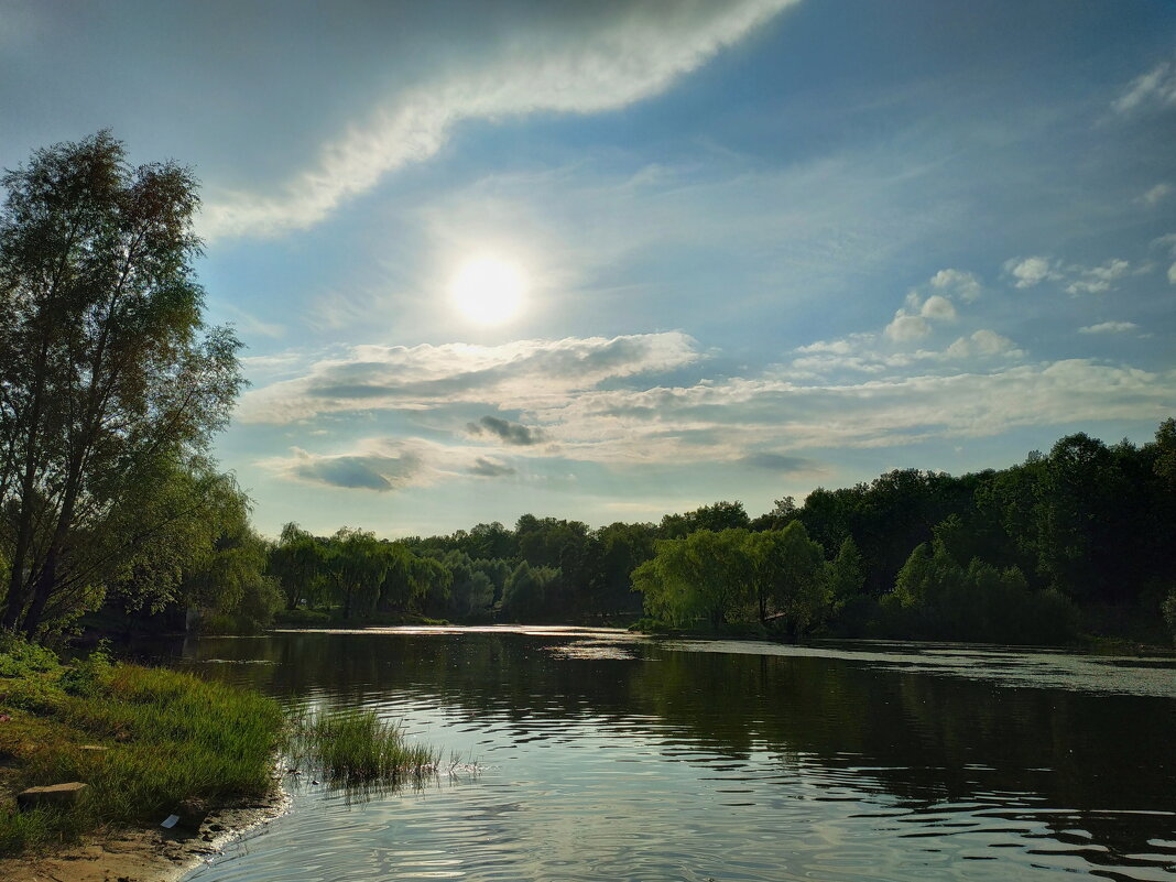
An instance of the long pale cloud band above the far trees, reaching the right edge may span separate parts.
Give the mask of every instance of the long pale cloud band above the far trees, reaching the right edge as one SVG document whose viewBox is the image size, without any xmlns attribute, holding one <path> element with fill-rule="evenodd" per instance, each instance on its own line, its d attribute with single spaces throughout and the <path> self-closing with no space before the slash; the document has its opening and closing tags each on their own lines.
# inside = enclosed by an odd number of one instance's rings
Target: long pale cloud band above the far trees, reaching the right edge
<svg viewBox="0 0 1176 882">
<path fill-rule="evenodd" d="M 982 336 L 976 345 L 989 343 Z M 1149 373 L 1081 359 L 860 382 L 740 377 L 688 388 L 594 393 L 568 402 L 559 416 L 581 437 L 561 437 L 568 455 L 590 452 L 597 461 L 619 462 L 681 456 L 714 461 L 729 457 L 729 446 L 700 447 L 693 454 L 667 448 L 650 437 L 653 427 L 721 426 L 744 449 L 781 442 L 793 450 L 901 446 L 996 435 L 1018 426 L 1163 419 L 1171 409 L 1168 387 L 1174 381 L 1171 370 Z M 554 413 L 540 416 L 544 423 L 555 419 Z M 610 429 L 607 435 L 604 427 Z"/>
</svg>

